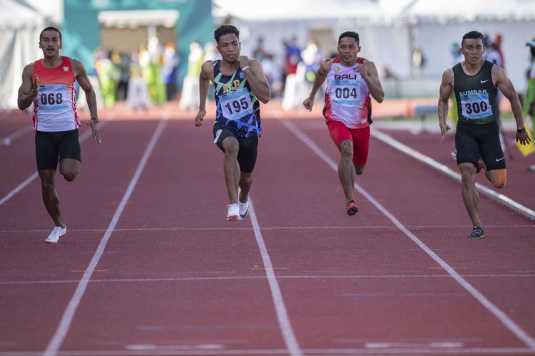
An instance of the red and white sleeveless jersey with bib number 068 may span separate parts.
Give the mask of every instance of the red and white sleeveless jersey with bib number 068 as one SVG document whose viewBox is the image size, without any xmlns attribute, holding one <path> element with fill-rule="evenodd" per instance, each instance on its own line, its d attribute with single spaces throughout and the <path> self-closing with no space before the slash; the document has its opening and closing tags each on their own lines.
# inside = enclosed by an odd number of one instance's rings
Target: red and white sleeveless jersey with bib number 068
<svg viewBox="0 0 535 356">
<path fill-rule="evenodd" d="M 46 68 L 41 60 L 34 62 L 34 73 L 39 77 L 39 93 L 34 99 L 34 130 L 46 132 L 70 131 L 80 127 L 76 114 L 76 80 L 68 57 L 56 68 Z"/>
</svg>

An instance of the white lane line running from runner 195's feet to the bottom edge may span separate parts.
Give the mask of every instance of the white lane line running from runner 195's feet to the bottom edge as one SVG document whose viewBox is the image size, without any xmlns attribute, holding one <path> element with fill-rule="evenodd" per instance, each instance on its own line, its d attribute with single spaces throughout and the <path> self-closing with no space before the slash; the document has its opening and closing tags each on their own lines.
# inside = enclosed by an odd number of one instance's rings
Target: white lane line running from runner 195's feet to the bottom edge
<svg viewBox="0 0 535 356">
<path fill-rule="evenodd" d="M 262 256 L 262 261 L 264 263 L 265 275 L 267 276 L 267 282 L 270 285 L 271 297 L 273 298 L 273 303 L 275 304 L 275 312 L 277 313 L 277 320 L 279 322 L 279 327 L 282 332 L 285 345 L 288 349 L 288 352 L 290 352 L 290 355 L 302 356 L 302 351 L 292 330 L 292 324 L 290 323 L 290 318 L 288 317 L 286 306 L 284 304 L 284 300 L 282 299 L 282 293 L 280 292 L 277 277 L 275 277 L 275 270 L 271 264 L 270 255 L 267 253 L 267 248 L 265 247 L 264 239 L 262 237 L 262 233 L 260 232 L 260 225 L 258 224 L 258 219 L 256 217 L 253 199 L 250 197 L 249 216 L 255 231 L 256 243 L 258 244 L 258 248 L 260 248 L 260 255 Z"/>
</svg>

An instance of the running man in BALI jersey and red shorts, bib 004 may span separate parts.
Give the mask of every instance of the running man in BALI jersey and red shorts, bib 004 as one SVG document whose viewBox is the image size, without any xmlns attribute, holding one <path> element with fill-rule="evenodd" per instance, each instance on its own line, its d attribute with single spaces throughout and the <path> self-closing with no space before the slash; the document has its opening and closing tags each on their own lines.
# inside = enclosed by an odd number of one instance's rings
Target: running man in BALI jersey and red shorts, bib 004
<svg viewBox="0 0 535 356">
<path fill-rule="evenodd" d="M 340 150 L 338 177 L 344 189 L 346 212 L 358 211 L 353 198 L 355 174 L 362 174 L 370 145 L 371 101 L 384 99 L 377 68 L 373 62 L 357 57 L 359 34 L 344 32 L 338 38 L 336 58 L 325 58 L 317 70 L 310 96 L 303 101 L 312 110 L 317 90 L 327 80 L 323 115 L 332 140 Z"/>
</svg>

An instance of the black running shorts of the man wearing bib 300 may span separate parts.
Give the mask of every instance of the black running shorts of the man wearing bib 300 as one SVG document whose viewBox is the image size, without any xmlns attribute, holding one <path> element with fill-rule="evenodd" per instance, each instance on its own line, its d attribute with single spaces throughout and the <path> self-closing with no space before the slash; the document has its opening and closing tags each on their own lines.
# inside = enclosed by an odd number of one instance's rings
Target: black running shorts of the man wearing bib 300
<svg viewBox="0 0 535 356">
<path fill-rule="evenodd" d="M 457 122 L 455 147 L 457 148 L 457 164 L 472 163 L 477 167 L 477 160 L 481 156 L 487 171 L 505 168 L 504 151 L 501 150 L 497 121 L 488 124 Z"/>
</svg>

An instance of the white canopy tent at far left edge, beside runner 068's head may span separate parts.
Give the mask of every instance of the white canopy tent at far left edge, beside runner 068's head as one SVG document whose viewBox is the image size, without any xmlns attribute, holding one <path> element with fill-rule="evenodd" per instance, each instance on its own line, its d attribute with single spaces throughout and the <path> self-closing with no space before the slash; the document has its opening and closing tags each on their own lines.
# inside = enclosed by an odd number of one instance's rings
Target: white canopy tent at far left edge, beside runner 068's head
<svg viewBox="0 0 535 356">
<path fill-rule="evenodd" d="M 42 57 L 38 42 L 45 19 L 24 0 L 0 0 L 0 9 L 0 109 L 6 110 L 17 108 L 24 66 Z"/>
</svg>

